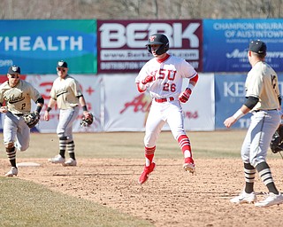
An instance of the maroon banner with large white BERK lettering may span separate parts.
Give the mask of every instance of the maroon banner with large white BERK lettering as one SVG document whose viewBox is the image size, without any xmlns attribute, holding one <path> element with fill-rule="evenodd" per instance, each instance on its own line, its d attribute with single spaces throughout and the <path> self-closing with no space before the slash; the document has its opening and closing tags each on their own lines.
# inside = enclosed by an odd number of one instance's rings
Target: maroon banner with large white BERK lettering
<svg viewBox="0 0 283 227">
<path fill-rule="evenodd" d="M 164 33 L 169 53 L 203 70 L 202 20 L 97 20 L 98 73 L 137 73 L 152 59 L 149 36 Z"/>
</svg>

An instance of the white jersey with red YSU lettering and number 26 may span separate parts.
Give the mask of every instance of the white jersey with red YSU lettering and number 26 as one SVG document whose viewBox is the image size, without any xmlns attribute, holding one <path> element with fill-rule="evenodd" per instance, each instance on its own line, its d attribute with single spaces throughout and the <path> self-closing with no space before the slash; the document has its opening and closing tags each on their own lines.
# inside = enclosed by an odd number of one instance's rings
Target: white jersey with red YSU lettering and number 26
<svg viewBox="0 0 283 227">
<path fill-rule="evenodd" d="M 178 99 L 183 78 L 191 79 L 197 73 L 186 60 L 167 55 L 165 59 L 150 59 L 141 69 L 135 82 L 142 82 L 147 75 L 153 75 L 153 82 L 147 84 L 152 98 Z"/>
</svg>

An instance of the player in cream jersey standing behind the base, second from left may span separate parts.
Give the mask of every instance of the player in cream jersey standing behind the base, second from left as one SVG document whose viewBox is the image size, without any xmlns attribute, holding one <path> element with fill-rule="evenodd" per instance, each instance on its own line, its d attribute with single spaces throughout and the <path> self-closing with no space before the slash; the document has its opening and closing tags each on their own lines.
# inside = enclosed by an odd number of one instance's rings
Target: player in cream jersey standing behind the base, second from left
<svg viewBox="0 0 283 227">
<path fill-rule="evenodd" d="M 88 117 L 88 108 L 85 98 L 80 90 L 80 84 L 68 74 L 67 63 L 63 60 L 57 62 L 57 79 L 53 82 L 50 91 L 50 102 L 44 114 L 44 120 L 50 120 L 50 110 L 57 104 L 60 109 L 57 136 L 59 137 L 59 154 L 49 159 L 51 163 L 61 163 L 63 166 L 76 166 L 74 153 L 73 121 L 79 115 L 79 104 L 83 114 Z M 65 160 L 65 151 L 70 159 Z"/>
</svg>

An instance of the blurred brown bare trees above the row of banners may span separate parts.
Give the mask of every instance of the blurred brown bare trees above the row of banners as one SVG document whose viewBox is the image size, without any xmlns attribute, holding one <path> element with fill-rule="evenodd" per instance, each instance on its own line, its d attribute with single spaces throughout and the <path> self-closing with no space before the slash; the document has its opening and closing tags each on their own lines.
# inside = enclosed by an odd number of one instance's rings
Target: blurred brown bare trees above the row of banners
<svg viewBox="0 0 283 227">
<path fill-rule="evenodd" d="M 2 0 L 0 19 L 282 18 L 283 0 Z"/>
</svg>

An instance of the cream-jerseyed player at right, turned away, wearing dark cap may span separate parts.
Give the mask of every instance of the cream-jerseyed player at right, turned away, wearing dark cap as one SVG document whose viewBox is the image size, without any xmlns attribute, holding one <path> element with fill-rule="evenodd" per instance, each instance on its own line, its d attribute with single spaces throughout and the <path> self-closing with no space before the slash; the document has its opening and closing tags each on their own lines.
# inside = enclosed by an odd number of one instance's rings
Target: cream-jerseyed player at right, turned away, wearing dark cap
<svg viewBox="0 0 283 227">
<path fill-rule="evenodd" d="M 243 192 L 231 202 L 236 204 L 255 202 L 256 207 L 270 207 L 283 203 L 283 196 L 277 190 L 271 168 L 266 162 L 272 135 L 280 123 L 281 97 L 278 76 L 272 67 L 264 62 L 265 55 L 264 42 L 255 40 L 249 43 L 248 58 L 252 68 L 245 83 L 247 101 L 233 116 L 224 121 L 226 127 L 230 128 L 244 114 L 249 112 L 252 114 L 247 135 L 241 146 L 246 184 Z M 269 191 L 266 199 L 259 202 L 256 202 L 254 192 L 256 171 Z"/>
</svg>

